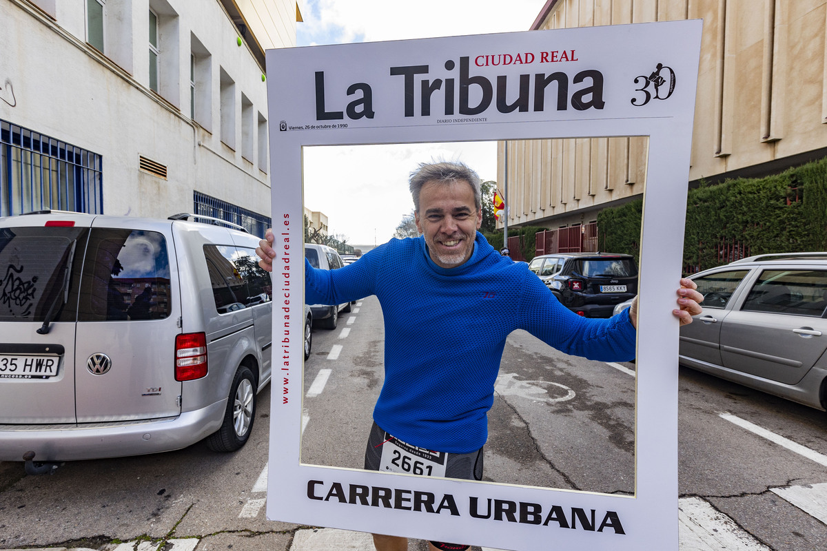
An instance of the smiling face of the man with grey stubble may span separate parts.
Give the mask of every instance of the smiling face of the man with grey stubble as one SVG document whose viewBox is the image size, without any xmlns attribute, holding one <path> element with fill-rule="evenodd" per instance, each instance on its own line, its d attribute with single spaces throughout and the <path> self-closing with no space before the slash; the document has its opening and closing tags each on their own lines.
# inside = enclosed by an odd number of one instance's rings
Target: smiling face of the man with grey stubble
<svg viewBox="0 0 827 551">
<path fill-rule="evenodd" d="M 425 183 L 419 190 L 415 218 L 434 264 L 456 268 L 471 258 L 476 230 L 482 225 L 482 209 L 474 207 L 470 183 Z"/>
</svg>

